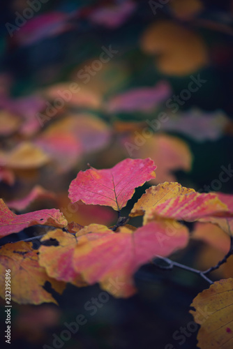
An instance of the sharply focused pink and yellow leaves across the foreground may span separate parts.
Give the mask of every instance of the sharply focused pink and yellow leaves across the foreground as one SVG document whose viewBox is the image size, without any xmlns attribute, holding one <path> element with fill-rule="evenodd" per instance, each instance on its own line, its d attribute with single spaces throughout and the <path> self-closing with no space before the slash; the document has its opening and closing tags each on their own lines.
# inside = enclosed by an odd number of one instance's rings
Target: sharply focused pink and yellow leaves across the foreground
<svg viewBox="0 0 233 349">
<path fill-rule="evenodd" d="M 115 297 L 130 297 L 136 292 L 133 274 L 141 265 L 187 246 L 190 234 L 181 221 L 218 225 L 232 241 L 232 195 L 201 194 L 176 182 L 151 186 L 135 203 L 129 217 L 122 217 L 121 209 L 132 198 L 135 188 L 155 178 L 155 170 L 156 165 L 150 158 L 127 158 L 114 168 L 90 168 L 77 174 L 69 188 L 71 202 L 82 200 L 89 205 L 112 207 L 119 213 L 112 227 L 96 223 L 85 227 L 79 222 L 68 224 L 57 209 L 16 215 L 1 200 L 1 237 L 31 225 L 53 227 L 38 237 L 39 248 L 25 241 L 1 246 L 1 284 L 4 270 L 10 269 L 13 300 L 20 304 L 57 303 L 45 288 L 47 282 L 59 293 L 66 283 L 81 287 L 98 282 Z M 143 216 L 142 227 L 128 224 L 135 216 Z M 232 253 L 231 244 L 227 257 Z M 200 272 L 200 275 L 207 272 Z M 205 279 L 211 283 L 206 276 Z M 120 287 L 113 288 L 112 281 L 116 280 Z M 3 288 L 1 297 L 4 297 Z M 219 300 L 216 297 L 220 297 Z M 198 323 L 202 323 L 198 315 L 200 308 L 208 306 L 209 309 L 209 318 L 199 333 L 202 348 L 219 348 L 217 345 L 230 348 L 233 339 L 232 279 L 213 283 L 209 290 L 194 299 L 192 306 L 196 309 L 193 315 Z M 222 311 L 222 315 L 216 315 L 217 311 Z M 211 336 L 212 331 L 215 331 L 214 336 Z M 211 347 L 203 344 L 206 333 L 210 336 Z"/>
</svg>

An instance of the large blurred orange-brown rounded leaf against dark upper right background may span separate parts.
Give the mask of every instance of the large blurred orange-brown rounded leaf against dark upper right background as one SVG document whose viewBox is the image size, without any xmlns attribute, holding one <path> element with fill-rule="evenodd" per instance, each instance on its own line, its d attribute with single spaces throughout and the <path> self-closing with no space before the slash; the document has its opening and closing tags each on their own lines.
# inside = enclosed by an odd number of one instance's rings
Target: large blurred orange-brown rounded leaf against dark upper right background
<svg viewBox="0 0 233 349">
<path fill-rule="evenodd" d="M 187 75 L 205 66 L 209 59 L 202 38 L 172 21 L 157 21 L 142 34 L 141 47 L 157 55 L 156 67 L 169 75 Z"/>
</svg>

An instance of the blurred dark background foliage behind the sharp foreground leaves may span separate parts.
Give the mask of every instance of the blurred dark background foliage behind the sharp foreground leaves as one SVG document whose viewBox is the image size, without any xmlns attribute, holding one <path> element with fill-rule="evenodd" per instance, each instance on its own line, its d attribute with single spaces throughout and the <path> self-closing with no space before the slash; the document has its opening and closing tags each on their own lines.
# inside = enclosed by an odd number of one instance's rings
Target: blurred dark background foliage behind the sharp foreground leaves
<svg viewBox="0 0 233 349">
<path fill-rule="evenodd" d="M 40 185 L 55 198 L 30 203 L 22 212 L 56 207 L 69 221 L 110 225 L 116 216 L 109 209 L 69 206 L 70 181 L 87 163 L 110 168 L 123 158 L 148 156 L 158 166 L 153 184 L 179 181 L 197 191 L 232 193 L 232 174 L 225 182 L 219 176 L 233 164 L 233 3 L 165 2 L 38 0 L 39 10 L 28 10 L 27 0 L 1 3 L 0 188 L 6 202 Z M 114 53 L 103 63 L 101 54 L 110 47 Z M 206 82 L 187 95 L 183 91 L 198 75 Z M 70 94 L 74 83 L 79 91 Z M 175 112 L 174 96 L 188 96 L 176 102 Z M 162 112 L 168 121 L 151 130 L 149 122 L 155 124 Z M 144 136 L 149 129 L 150 137 Z M 126 144 L 133 145 L 132 153 Z M 146 187 L 137 189 L 123 214 Z M 10 239 L 33 235 L 29 228 Z M 222 255 L 216 246 L 193 241 L 174 258 L 202 269 Z M 232 260 L 214 275 L 225 276 L 232 276 Z M 193 320 L 189 304 L 206 288 L 204 281 L 146 265 L 135 283 L 137 295 L 110 297 L 93 316 L 84 304 L 98 297 L 98 285 L 68 285 L 59 308 L 14 304 L 12 347 L 52 346 L 63 322 L 84 313 L 87 325 L 63 348 L 196 348 L 197 332 L 182 346 L 172 336 Z M 0 321 L 4 327 L 3 311 Z"/>
</svg>

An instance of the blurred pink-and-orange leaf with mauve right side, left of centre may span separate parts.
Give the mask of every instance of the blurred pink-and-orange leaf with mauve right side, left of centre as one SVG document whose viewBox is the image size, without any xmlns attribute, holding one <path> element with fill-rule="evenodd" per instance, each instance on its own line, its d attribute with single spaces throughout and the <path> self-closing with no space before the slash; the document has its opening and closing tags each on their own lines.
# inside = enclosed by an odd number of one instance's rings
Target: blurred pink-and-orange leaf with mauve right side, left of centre
<svg viewBox="0 0 233 349">
<path fill-rule="evenodd" d="M 103 149 L 110 135 L 107 124 L 93 114 L 71 114 L 48 126 L 34 142 L 50 154 L 59 168 L 69 170 L 82 154 Z"/>
</svg>

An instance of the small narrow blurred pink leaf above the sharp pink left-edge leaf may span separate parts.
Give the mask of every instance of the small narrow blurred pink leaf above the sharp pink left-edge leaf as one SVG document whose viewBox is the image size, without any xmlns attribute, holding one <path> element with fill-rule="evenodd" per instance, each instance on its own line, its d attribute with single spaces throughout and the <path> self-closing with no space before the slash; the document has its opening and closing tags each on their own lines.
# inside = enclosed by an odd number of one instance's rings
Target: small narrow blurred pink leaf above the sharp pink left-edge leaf
<svg viewBox="0 0 233 349">
<path fill-rule="evenodd" d="M 31 192 L 22 199 L 15 199 L 6 202 L 6 205 L 10 209 L 15 209 L 17 211 L 23 211 L 26 209 L 29 205 L 31 205 L 32 202 L 35 200 L 43 200 L 43 199 L 55 199 L 55 194 L 51 191 L 45 190 L 42 186 L 34 186 L 34 188 L 31 190 Z"/>
</svg>

